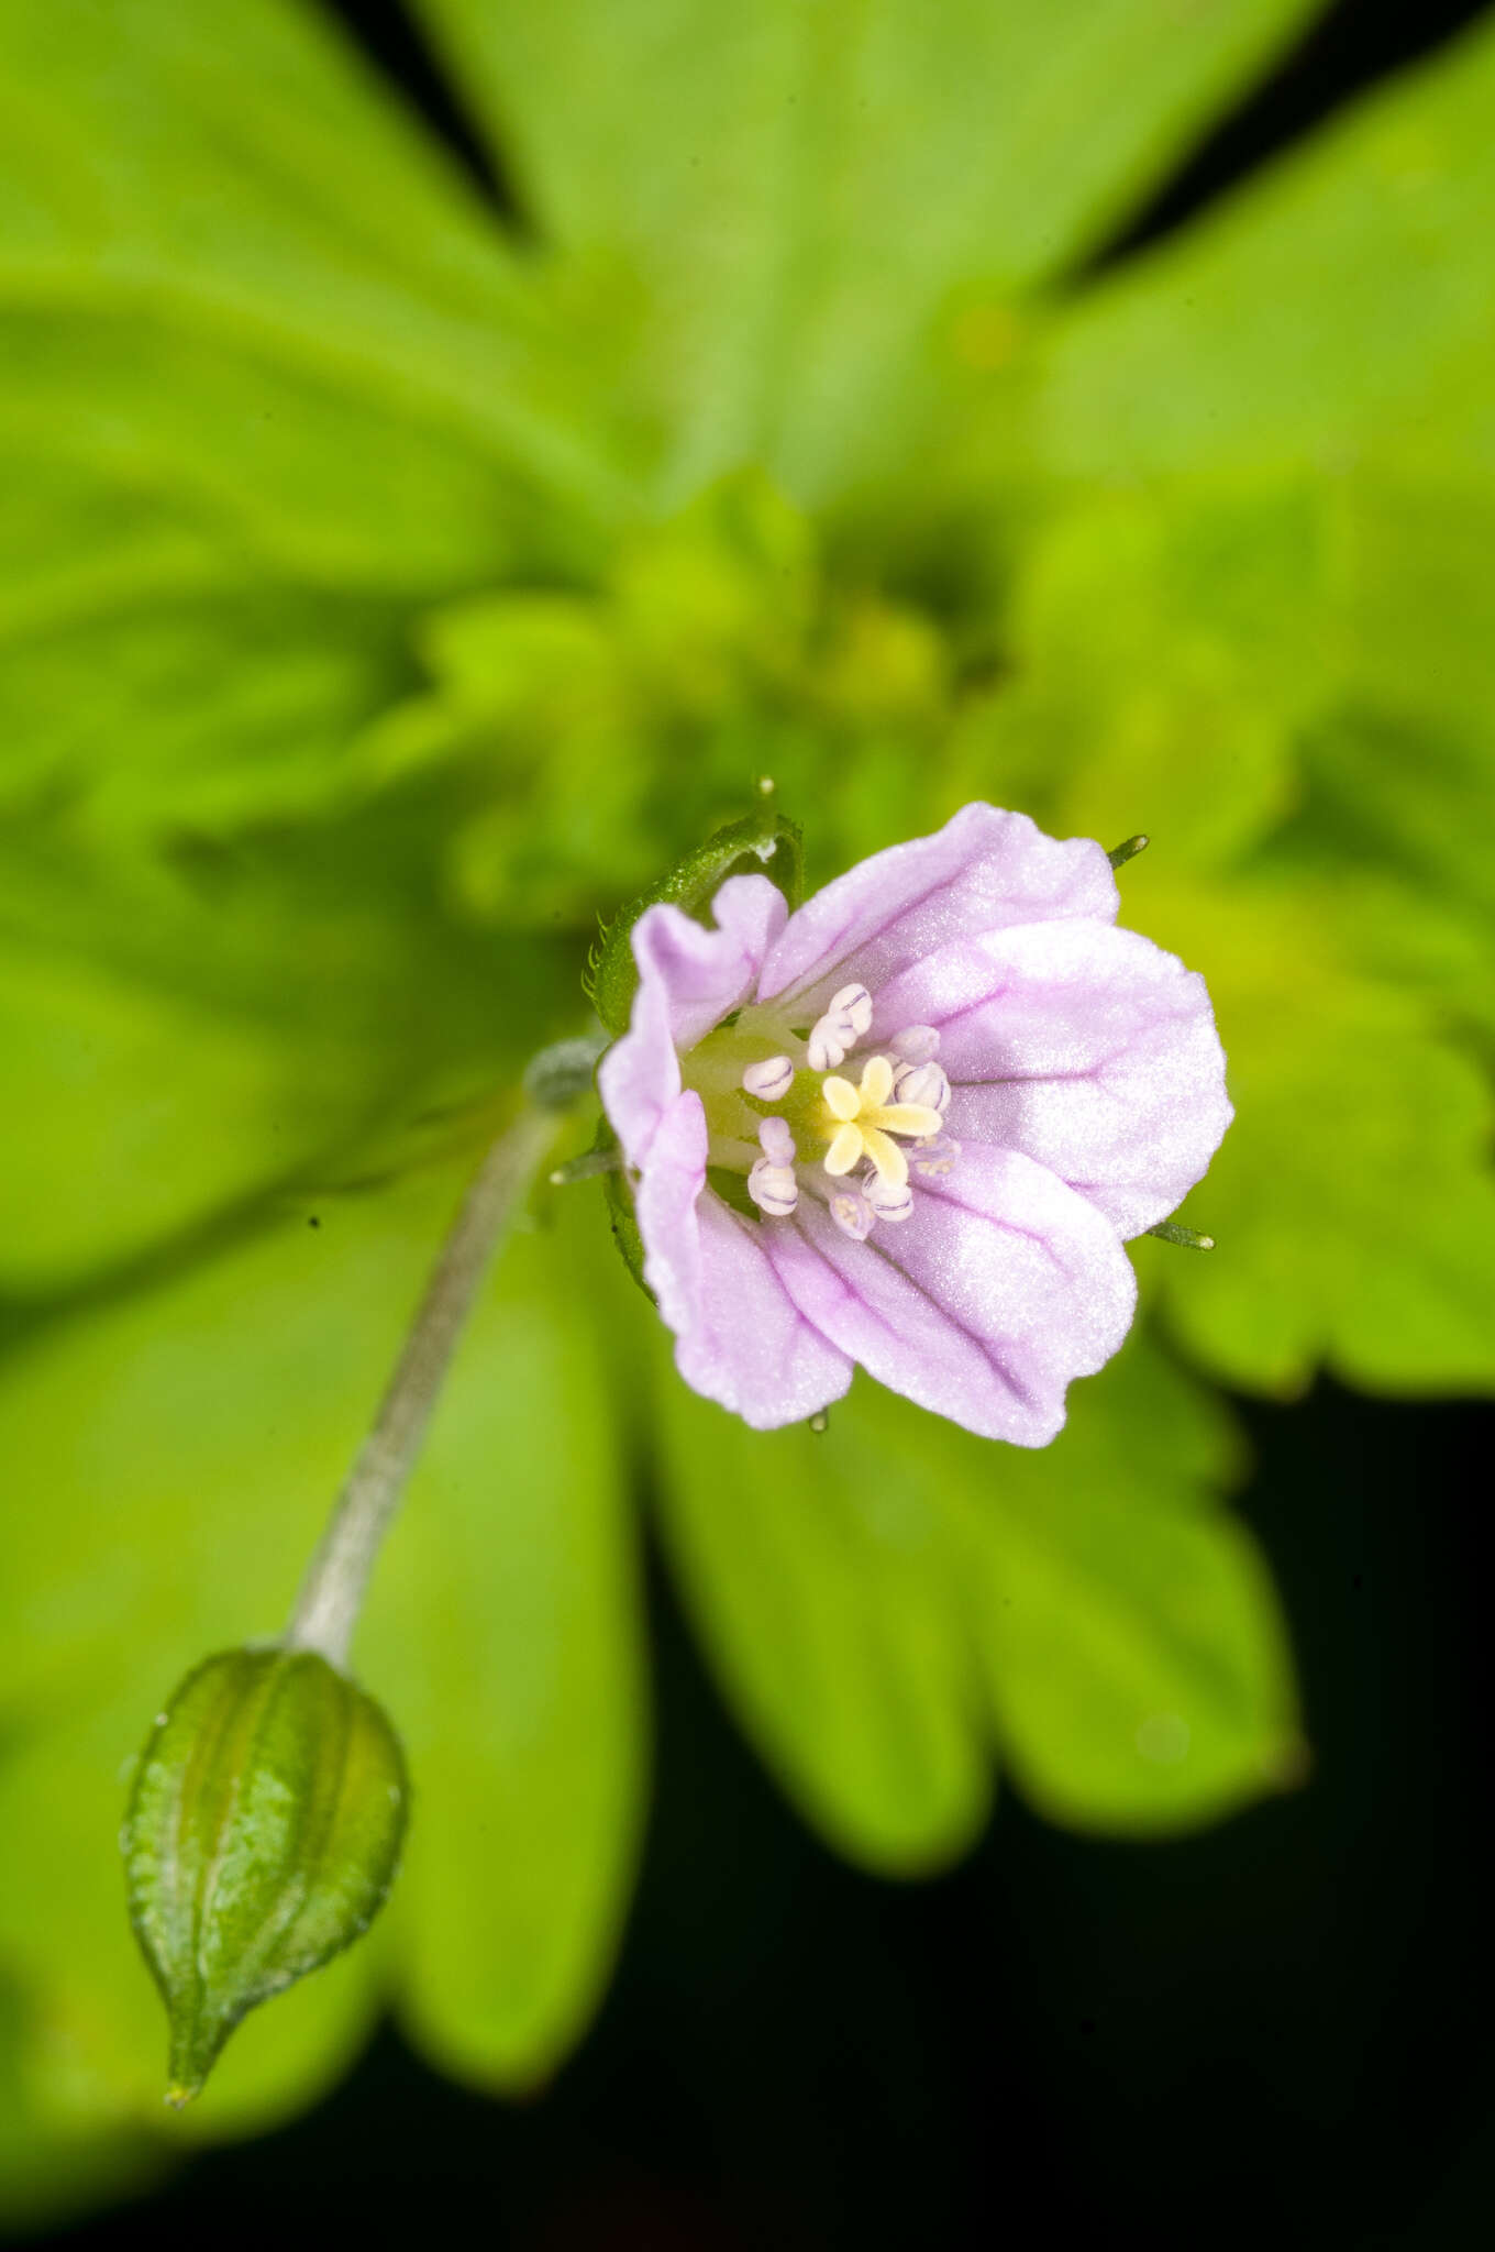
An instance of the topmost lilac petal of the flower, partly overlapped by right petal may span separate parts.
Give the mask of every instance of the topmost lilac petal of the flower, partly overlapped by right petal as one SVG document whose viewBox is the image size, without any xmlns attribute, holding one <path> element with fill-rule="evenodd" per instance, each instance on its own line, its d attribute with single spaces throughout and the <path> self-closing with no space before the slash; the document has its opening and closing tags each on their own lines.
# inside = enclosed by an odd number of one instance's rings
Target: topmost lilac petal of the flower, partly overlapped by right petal
<svg viewBox="0 0 1495 2252">
<path fill-rule="evenodd" d="M 885 1034 L 880 989 L 910 962 L 982 930 L 1076 914 L 1117 917 L 1117 881 L 1099 844 L 1047 838 L 1027 813 L 964 806 L 932 838 L 889 844 L 806 899 L 768 950 L 759 998 L 788 993 L 813 1022 L 853 971 Z"/>
</svg>

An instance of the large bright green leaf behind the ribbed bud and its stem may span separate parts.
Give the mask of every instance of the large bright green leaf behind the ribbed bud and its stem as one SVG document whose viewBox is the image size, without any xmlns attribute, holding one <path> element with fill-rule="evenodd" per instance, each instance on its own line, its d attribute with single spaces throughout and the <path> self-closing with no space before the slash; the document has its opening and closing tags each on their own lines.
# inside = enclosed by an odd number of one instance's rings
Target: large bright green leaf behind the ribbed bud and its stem
<svg viewBox="0 0 1495 2252">
<path fill-rule="evenodd" d="M 320 1196 L 317 1227 L 299 1205 L 7 1360 L 0 1970 L 34 1995 L 47 2110 L 72 2130 L 162 2121 L 160 2004 L 113 1853 L 142 1709 L 203 1651 L 281 1628 L 457 1189 L 444 1171 Z M 439 1930 L 421 1919 L 419 1943 L 405 1937 L 401 1887 L 365 1946 L 245 2020 L 173 2139 L 302 2108 L 392 1984 L 441 2056 L 511 2081 L 547 2070 L 594 2004 L 642 1761 L 635 1585 L 585 1329 L 610 1270 L 592 1295 L 563 1284 L 585 1266 L 588 1221 L 563 1207 L 561 1243 L 516 1245 L 522 1268 L 453 1371 L 356 1653 L 410 1750 L 403 1885 L 450 1912 L 462 1986 Z"/>
</svg>

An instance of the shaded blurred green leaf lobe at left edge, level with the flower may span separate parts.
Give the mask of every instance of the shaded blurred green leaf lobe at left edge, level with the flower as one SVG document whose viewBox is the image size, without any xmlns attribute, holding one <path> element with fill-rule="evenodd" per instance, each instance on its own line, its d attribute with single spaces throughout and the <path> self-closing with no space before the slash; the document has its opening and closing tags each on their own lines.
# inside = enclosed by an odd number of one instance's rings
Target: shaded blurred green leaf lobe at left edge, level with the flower
<svg viewBox="0 0 1495 2252">
<path fill-rule="evenodd" d="M 576 1022 L 579 950 L 448 923 L 432 829 L 439 808 L 405 799 L 171 867 L 41 824 L 0 844 L 7 1290 L 119 1272 L 288 1180 L 344 1178 L 376 1131 L 491 1103 Z"/>
</svg>

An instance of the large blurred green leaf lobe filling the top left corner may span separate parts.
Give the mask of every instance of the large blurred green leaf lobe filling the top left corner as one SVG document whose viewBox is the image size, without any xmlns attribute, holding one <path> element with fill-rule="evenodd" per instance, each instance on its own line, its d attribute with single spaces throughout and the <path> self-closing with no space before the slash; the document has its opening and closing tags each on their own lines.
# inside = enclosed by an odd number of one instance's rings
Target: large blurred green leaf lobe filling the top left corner
<svg viewBox="0 0 1495 2252">
<path fill-rule="evenodd" d="M 290 0 L 0 0 L 7 790 L 113 829 L 315 804 L 410 604 L 590 572 L 590 313 Z"/>
</svg>

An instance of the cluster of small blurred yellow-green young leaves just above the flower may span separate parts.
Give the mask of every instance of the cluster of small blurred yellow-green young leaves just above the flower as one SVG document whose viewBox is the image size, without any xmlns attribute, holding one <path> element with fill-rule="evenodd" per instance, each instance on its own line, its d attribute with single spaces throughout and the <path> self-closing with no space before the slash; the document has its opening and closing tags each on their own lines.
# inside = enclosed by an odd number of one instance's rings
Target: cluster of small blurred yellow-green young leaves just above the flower
<svg viewBox="0 0 1495 2252">
<path fill-rule="evenodd" d="M 743 811 L 813 804 L 826 874 L 928 826 L 948 712 L 932 619 L 829 583 L 759 473 L 617 547 L 594 595 L 495 592 L 421 619 L 432 685 L 371 723 L 371 790 L 446 770 L 480 811 L 448 896 L 484 923 L 594 928 Z M 948 806 L 955 811 L 955 802 Z"/>
</svg>

